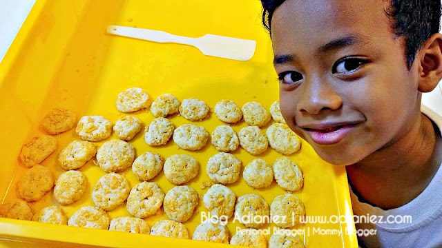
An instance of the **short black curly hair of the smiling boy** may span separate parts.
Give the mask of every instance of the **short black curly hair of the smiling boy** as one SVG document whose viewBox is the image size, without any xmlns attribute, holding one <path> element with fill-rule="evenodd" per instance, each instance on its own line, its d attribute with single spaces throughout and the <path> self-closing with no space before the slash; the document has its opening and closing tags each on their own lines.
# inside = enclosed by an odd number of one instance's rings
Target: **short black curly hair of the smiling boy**
<svg viewBox="0 0 442 248">
<path fill-rule="evenodd" d="M 405 57 L 410 70 L 421 45 L 440 30 L 441 0 L 382 0 L 390 1 L 385 13 L 392 20 L 397 37 L 405 38 Z M 285 0 L 261 0 L 262 23 L 271 32 L 273 12 Z"/>
</svg>

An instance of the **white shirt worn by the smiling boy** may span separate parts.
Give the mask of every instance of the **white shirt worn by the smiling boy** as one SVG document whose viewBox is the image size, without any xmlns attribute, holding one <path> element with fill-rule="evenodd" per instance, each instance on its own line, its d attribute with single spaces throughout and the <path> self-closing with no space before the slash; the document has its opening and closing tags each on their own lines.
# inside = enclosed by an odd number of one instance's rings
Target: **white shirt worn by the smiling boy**
<svg viewBox="0 0 442 248">
<path fill-rule="evenodd" d="M 425 105 L 421 111 L 442 131 L 442 116 Z M 361 203 L 351 188 L 350 197 L 356 216 L 382 216 L 384 222 L 388 216 L 411 216 L 411 221 L 403 223 L 403 217 L 396 217 L 396 223 L 356 223 L 356 229 L 376 229 L 376 235 L 358 237 L 362 247 L 442 247 L 442 165 L 423 192 L 401 207 L 383 210 Z"/>
</svg>

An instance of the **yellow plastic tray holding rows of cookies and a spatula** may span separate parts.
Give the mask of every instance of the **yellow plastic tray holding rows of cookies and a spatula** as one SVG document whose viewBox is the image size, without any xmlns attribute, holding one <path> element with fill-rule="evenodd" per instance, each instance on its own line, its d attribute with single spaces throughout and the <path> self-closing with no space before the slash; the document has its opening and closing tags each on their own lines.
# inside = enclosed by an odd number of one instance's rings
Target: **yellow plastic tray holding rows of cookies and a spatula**
<svg viewBox="0 0 442 248">
<path fill-rule="evenodd" d="M 41 134 L 39 121 L 52 107 L 66 107 L 78 116 L 103 115 L 115 123 L 123 114 L 115 107 L 117 94 L 128 87 L 142 87 L 151 96 L 175 94 L 182 100 L 197 97 L 213 109 L 221 99 L 232 99 L 238 105 L 258 101 L 269 107 L 278 99 L 278 82 L 273 71 L 272 50 L 268 34 L 260 23 L 258 0 L 132 0 L 132 1 L 46 1 L 37 0 L 28 18 L 3 62 L 0 64 L 0 202 L 17 197 L 17 178 L 25 168 L 20 165 L 18 154 L 21 145 L 32 136 Z M 159 44 L 105 34 L 107 25 L 128 25 L 139 28 L 165 30 L 173 34 L 200 37 L 206 33 L 219 34 L 257 41 L 255 56 L 250 61 L 231 61 L 202 55 L 195 48 L 177 44 Z M 150 112 L 133 114 L 144 124 L 153 120 Z M 175 126 L 189 123 L 180 116 L 173 116 Z M 213 114 L 197 123 L 209 132 L 222 123 Z M 244 123 L 233 125 L 238 132 Z M 52 169 L 54 176 L 63 171 L 57 165 L 60 150 L 77 138 L 71 130 L 57 136 L 57 151 L 42 164 Z M 115 138 L 115 135 L 113 136 Z M 148 147 L 140 132 L 131 143 L 137 155 L 154 151 L 164 157 L 171 154 L 191 154 L 201 164 L 200 174 L 190 185 L 200 195 L 202 182 L 209 181 L 205 165 L 216 153 L 211 145 L 198 152 L 177 149 L 173 142 L 160 148 Z M 254 157 L 243 149 L 234 152 L 247 165 Z M 280 154 L 268 149 L 258 156 L 269 163 Z M 328 165 L 318 158 L 314 150 L 302 141 L 301 152 L 292 159 L 305 173 L 305 185 L 296 192 L 305 203 L 309 216 L 352 216 L 347 177 L 344 167 Z M 93 161 L 81 167 L 88 177 L 88 189 L 73 205 L 63 207 L 70 216 L 79 207 L 93 205 L 91 187 L 104 175 Z M 137 180 L 130 169 L 123 172 L 135 185 Z M 153 181 L 167 192 L 173 187 L 164 174 Z M 248 187 L 242 178 L 229 186 L 237 196 L 257 193 L 270 205 L 273 198 L 284 191 L 276 185 L 264 190 Z M 35 211 L 57 204 L 52 193 L 32 203 Z M 192 234 L 200 223 L 200 214 L 206 211 L 202 203 L 193 218 L 185 223 Z M 129 216 L 122 206 L 109 212 L 111 217 Z M 147 218 L 149 225 L 166 218 L 164 212 Z M 227 226 L 231 236 L 239 223 Z M 266 225 L 264 228 L 273 225 Z M 301 236 L 307 247 L 357 247 L 355 235 L 314 234 L 313 228 L 345 229 L 354 231 L 354 223 L 306 224 L 298 227 L 306 234 Z M 269 236 L 267 236 L 269 238 Z M 222 247 L 213 243 L 193 240 L 126 234 L 115 231 L 81 229 L 30 221 L 0 218 L 0 245 L 29 246 L 51 245 L 99 245 L 107 247 L 135 247 L 162 245 L 164 247 Z"/>
</svg>

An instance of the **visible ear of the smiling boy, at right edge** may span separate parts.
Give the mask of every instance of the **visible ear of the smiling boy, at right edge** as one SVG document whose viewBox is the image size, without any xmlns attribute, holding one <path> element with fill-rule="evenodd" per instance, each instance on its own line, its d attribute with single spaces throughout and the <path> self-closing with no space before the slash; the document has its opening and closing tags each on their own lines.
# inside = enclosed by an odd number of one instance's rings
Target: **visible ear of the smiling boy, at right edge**
<svg viewBox="0 0 442 248">
<path fill-rule="evenodd" d="M 431 92 L 442 79 L 442 34 L 427 39 L 420 54 L 418 89 Z"/>
</svg>

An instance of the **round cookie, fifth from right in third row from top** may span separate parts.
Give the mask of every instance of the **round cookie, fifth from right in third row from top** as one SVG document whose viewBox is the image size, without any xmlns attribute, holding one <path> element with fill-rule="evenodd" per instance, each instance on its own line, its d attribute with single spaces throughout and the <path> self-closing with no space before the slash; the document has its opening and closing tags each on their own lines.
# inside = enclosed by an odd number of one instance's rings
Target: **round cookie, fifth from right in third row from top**
<svg viewBox="0 0 442 248">
<path fill-rule="evenodd" d="M 138 180 L 151 180 L 161 172 L 164 158 L 160 154 L 146 152 L 133 161 L 132 172 Z"/>
</svg>

